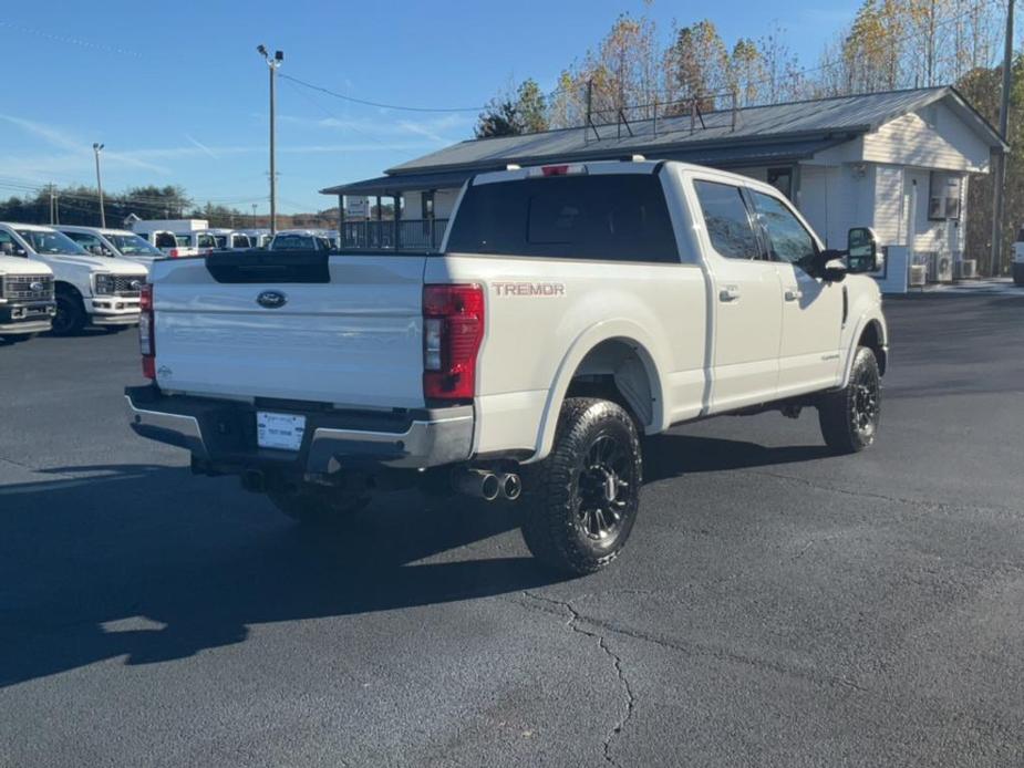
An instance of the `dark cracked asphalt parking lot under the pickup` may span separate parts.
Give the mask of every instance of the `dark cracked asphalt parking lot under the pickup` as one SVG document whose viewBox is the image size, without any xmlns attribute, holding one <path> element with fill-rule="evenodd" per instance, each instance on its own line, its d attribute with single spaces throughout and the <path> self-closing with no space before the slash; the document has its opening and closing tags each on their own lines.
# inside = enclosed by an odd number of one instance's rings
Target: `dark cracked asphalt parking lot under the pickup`
<svg viewBox="0 0 1024 768">
<path fill-rule="evenodd" d="M 134 331 L 0 347 L 0 765 L 1024 762 L 1024 297 L 888 302 L 878 444 L 645 446 L 622 559 L 514 506 L 301 533 L 135 437 Z"/>
</svg>

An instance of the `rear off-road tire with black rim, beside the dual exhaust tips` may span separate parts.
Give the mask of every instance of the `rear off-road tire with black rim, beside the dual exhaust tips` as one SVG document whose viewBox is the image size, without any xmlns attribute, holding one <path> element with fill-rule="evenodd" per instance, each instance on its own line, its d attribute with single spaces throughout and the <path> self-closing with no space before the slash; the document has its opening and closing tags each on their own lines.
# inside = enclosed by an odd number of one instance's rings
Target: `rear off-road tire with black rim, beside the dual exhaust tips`
<svg viewBox="0 0 1024 768">
<path fill-rule="evenodd" d="M 524 469 L 523 538 L 534 557 L 581 575 L 619 556 L 637 519 L 643 480 L 637 427 L 620 405 L 567 398 L 550 455 Z M 602 521 L 611 523 L 603 532 Z"/>
</svg>

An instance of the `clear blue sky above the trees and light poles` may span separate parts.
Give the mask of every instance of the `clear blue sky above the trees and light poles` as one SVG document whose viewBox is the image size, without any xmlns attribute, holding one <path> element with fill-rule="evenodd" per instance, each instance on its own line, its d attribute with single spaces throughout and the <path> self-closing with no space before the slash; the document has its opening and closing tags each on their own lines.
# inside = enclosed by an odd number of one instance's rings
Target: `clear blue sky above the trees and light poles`
<svg viewBox="0 0 1024 768">
<path fill-rule="evenodd" d="M 476 106 L 511 81 L 554 87 L 623 11 L 647 10 L 668 35 L 673 19 L 710 15 L 726 42 L 777 22 L 805 65 L 857 0 L 666 2 L 219 2 L 8 3 L 0 101 L 0 196 L 95 183 L 92 143 L 106 145 L 104 187 L 179 184 L 198 203 L 267 210 L 265 42 L 282 73 L 360 98 Z M 330 205 L 319 188 L 472 135 L 476 114 L 395 112 L 278 90 L 279 207 Z"/>
</svg>

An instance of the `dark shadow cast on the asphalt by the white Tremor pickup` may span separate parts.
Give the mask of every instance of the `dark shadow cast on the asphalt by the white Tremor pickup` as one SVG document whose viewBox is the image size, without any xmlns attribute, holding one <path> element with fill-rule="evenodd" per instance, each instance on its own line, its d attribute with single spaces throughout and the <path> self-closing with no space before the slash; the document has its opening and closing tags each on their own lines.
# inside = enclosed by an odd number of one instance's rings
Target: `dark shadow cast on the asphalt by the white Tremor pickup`
<svg viewBox="0 0 1024 768">
<path fill-rule="evenodd" d="M 645 479 L 825 455 L 824 446 L 669 434 L 648 440 Z M 151 465 L 39 474 L 53 479 L 0 486 L 0 687 L 120 656 L 128 665 L 184 658 L 244 642 L 257 624 L 561 580 L 518 537 L 483 543 L 519 525 L 500 502 L 395 494 L 317 533 L 231 478 Z"/>
</svg>

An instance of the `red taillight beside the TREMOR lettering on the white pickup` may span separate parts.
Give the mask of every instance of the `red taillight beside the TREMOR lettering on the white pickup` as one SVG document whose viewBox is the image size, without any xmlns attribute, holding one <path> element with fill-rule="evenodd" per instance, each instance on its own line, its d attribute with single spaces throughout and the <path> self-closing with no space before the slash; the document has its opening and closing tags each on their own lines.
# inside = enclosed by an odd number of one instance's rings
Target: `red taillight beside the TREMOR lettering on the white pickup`
<svg viewBox="0 0 1024 768">
<path fill-rule="evenodd" d="M 476 284 L 423 288 L 423 395 L 472 399 L 484 341 L 484 289 Z"/>
</svg>

